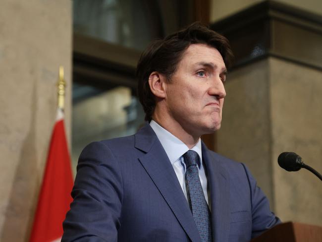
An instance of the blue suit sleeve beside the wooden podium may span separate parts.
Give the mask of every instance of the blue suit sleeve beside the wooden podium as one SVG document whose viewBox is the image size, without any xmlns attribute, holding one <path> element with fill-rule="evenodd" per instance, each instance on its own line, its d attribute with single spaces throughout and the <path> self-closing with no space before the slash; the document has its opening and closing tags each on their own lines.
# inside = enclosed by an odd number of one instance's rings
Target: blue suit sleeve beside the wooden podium
<svg viewBox="0 0 322 242">
<path fill-rule="evenodd" d="M 281 223 L 281 221 L 273 212 L 271 212 L 268 198 L 262 189 L 257 186 L 257 182 L 251 175 L 248 168 L 244 164 L 242 165 L 246 171 L 250 184 L 252 203 L 252 238 L 255 238 L 266 230 Z"/>
</svg>

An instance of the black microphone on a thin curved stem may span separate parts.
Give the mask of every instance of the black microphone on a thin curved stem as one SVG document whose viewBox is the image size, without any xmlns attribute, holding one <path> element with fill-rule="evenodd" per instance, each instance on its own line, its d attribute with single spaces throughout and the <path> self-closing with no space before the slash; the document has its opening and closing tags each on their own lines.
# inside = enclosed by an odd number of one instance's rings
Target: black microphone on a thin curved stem
<svg viewBox="0 0 322 242">
<path fill-rule="evenodd" d="M 304 164 L 301 156 L 294 152 L 283 152 L 278 156 L 277 159 L 278 165 L 285 169 L 288 172 L 297 172 L 301 168 L 305 168 L 312 172 L 314 175 L 316 175 L 320 180 L 322 181 L 322 176 L 320 173 L 318 173 L 316 170 L 314 170 L 312 167 Z"/>
</svg>

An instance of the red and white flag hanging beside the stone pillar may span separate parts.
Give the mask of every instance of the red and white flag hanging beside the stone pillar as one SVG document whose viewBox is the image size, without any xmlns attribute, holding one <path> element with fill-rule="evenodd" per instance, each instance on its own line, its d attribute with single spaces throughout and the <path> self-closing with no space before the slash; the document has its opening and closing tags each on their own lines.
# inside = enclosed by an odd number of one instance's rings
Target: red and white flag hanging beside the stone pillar
<svg viewBox="0 0 322 242">
<path fill-rule="evenodd" d="M 72 186 L 63 111 L 58 108 L 30 242 L 60 241 L 62 222 L 72 202 Z"/>
</svg>

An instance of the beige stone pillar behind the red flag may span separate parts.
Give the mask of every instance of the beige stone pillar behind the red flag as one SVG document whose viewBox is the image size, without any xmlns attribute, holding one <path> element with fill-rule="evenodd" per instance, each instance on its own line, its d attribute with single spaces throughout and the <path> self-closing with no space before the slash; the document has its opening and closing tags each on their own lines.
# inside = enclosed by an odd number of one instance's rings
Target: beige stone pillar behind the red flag
<svg viewBox="0 0 322 242">
<path fill-rule="evenodd" d="M 0 241 L 28 241 L 65 69 L 70 141 L 72 2 L 2 0 Z"/>
</svg>

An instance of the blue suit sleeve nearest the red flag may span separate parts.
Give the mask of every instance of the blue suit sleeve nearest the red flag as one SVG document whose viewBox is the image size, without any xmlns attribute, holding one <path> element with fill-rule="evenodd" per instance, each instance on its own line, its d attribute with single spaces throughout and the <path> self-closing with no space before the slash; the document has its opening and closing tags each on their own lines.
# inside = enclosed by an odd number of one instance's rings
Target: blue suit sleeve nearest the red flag
<svg viewBox="0 0 322 242">
<path fill-rule="evenodd" d="M 119 164 L 104 143 L 91 143 L 82 151 L 71 195 L 61 241 L 116 242 L 123 184 Z"/>
</svg>

